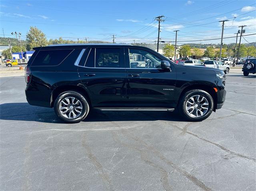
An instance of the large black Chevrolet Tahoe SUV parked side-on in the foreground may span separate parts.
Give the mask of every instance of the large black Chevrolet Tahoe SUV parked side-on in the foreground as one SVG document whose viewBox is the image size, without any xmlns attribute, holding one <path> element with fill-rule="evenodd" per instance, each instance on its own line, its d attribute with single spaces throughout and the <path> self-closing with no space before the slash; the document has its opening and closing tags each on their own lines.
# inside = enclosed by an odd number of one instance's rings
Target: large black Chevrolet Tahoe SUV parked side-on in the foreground
<svg viewBox="0 0 256 191">
<path fill-rule="evenodd" d="M 223 71 L 177 65 L 152 49 L 123 44 L 36 47 L 26 67 L 26 99 L 80 122 L 100 110 L 178 110 L 206 119 L 224 104 Z"/>
</svg>

